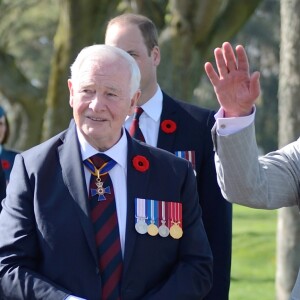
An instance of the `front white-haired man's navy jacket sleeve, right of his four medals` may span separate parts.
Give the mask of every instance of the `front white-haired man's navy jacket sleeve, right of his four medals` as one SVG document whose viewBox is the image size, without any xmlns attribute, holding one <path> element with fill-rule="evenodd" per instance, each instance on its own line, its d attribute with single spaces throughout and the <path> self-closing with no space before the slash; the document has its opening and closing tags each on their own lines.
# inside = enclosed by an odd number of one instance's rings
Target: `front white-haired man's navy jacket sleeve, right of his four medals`
<svg viewBox="0 0 300 300">
<path fill-rule="evenodd" d="M 181 189 L 183 236 L 178 263 L 166 279 L 143 300 L 200 300 L 212 286 L 212 255 L 201 218 L 196 179 L 190 163 Z"/>
</svg>

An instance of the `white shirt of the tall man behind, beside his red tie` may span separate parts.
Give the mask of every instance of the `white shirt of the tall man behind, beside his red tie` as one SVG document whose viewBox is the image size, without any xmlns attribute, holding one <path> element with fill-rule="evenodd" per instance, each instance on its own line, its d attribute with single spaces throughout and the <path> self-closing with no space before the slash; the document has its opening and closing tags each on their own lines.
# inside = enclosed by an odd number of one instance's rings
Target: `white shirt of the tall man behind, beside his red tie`
<svg viewBox="0 0 300 300">
<path fill-rule="evenodd" d="M 163 94 L 159 86 L 154 96 L 141 107 L 144 112 L 139 119 L 140 129 L 148 145 L 157 147 L 158 132 L 160 126 L 160 116 L 162 112 Z M 128 116 L 125 127 L 129 131 L 133 115 Z"/>
</svg>

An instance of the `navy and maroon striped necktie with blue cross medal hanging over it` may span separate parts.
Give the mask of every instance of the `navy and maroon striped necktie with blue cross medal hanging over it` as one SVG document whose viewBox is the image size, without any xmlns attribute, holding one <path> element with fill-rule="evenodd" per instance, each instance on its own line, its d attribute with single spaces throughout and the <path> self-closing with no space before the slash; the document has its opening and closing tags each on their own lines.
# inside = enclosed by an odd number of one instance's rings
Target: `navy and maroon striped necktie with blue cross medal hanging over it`
<svg viewBox="0 0 300 300">
<path fill-rule="evenodd" d="M 96 154 L 84 164 L 92 173 L 89 197 L 102 278 L 101 299 L 117 300 L 120 299 L 122 252 L 114 190 L 108 174 L 116 162 L 105 154 Z"/>
</svg>

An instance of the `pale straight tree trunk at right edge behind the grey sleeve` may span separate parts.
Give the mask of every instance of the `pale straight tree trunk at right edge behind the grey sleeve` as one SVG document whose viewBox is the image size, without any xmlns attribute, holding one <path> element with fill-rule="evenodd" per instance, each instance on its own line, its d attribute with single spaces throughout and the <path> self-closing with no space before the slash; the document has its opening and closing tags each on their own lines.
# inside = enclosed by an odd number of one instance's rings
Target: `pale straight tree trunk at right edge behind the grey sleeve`
<svg viewBox="0 0 300 300">
<path fill-rule="evenodd" d="M 279 147 L 299 137 L 300 114 L 300 2 L 281 1 L 279 77 Z M 278 215 L 276 296 L 289 299 L 300 266 L 300 216 L 297 207 Z"/>
</svg>

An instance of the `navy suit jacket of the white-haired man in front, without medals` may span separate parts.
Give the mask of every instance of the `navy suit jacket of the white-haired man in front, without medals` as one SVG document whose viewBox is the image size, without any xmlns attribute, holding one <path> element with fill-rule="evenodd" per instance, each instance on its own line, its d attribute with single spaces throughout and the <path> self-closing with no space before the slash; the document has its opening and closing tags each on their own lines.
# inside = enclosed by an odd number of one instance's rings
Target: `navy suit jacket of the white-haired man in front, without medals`
<svg viewBox="0 0 300 300">
<path fill-rule="evenodd" d="M 142 155 L 149 169 L 132 159 Z M 128 137 L 122 300 L 203 299 L 212 255 L 191 164 Z M 135 231 L 135 197 L 182 202 L 183 237 Z M 101 277 L 75 125 L 18 154 L 0 215 L 0 298 L 99 300 Z"/>
</svg>

